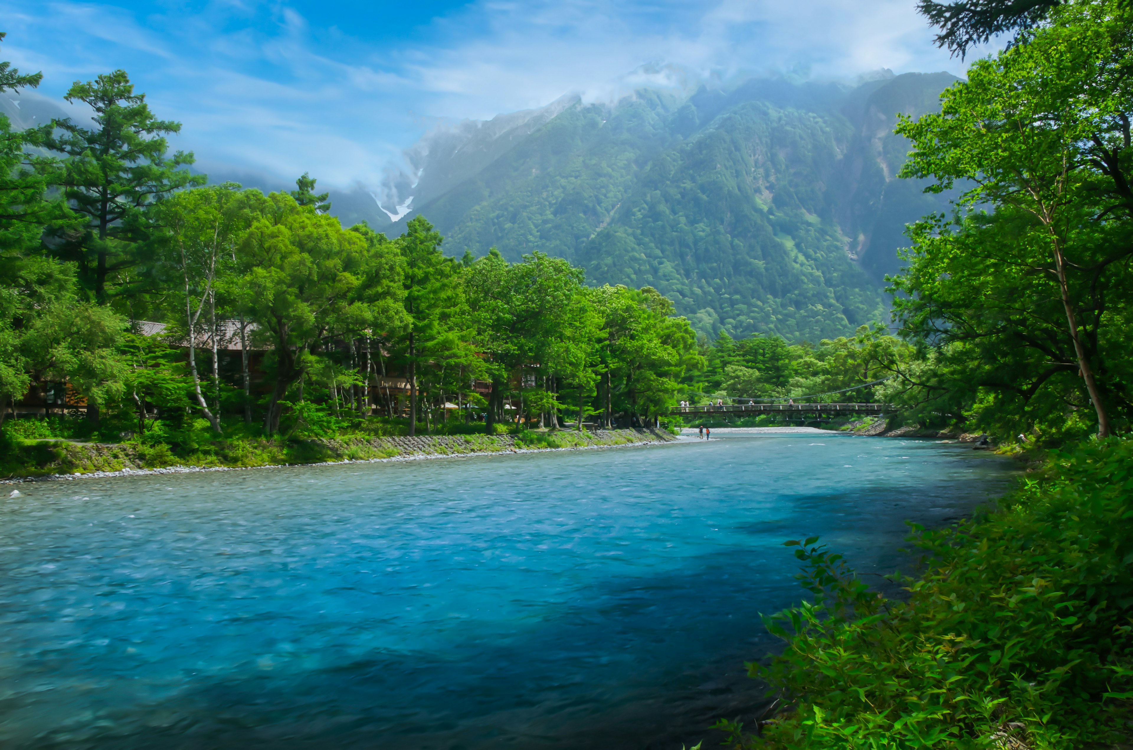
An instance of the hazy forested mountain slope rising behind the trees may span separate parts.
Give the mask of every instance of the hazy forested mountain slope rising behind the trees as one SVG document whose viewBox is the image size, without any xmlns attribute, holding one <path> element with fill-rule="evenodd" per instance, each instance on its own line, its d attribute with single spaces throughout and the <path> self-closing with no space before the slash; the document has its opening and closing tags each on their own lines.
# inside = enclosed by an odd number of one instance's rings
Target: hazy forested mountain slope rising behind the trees
<svg viewBox="0 0 1133 750">
<path fill-rule="evenodd" d="M 559 102 L 519 135 L 501 128 L 497 156 L 408 215 L 436 224 L 450 254 L 537 249 L 591 282 L 656 287 L 709 334 L 840 335 L 884 316 L 904 224 L 946 205 L 895 180 L 906 144 L 892 129 L 955 80 L 752 79 L 613 106 Z M 445 163 L 434 155 L 424 171 Z"/>
</svg>

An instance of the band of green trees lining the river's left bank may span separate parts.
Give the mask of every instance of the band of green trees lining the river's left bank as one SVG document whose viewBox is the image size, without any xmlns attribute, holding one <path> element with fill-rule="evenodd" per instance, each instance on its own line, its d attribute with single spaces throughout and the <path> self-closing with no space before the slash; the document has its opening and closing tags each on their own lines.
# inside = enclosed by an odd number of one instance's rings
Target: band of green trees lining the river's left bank
<svg viewBox="0 0 1133 750">
<path fill-rule="evenodd" d="M 10 91 L 39 83 L 5 76 Z M 492 432 L 514 397 L 554 423 L 566 393 L 583 411 L 597 399 L 606 423 L 616 408 L 638 424 L 699 366 L 688 323 L 650 289 L 588 288 L 537 252 L 457 262 L 423 218 L 395 240 L 343 229 L 306 174 L 290 194 L 205 186 L 191 154 L 168 153 L 178 123 L 120 70 L 68 99 L 91 106 L 90 125 L 5 130 L 6 406 L 77 399 L 88 431 L 148 441 L 375 410 L 406 416 L 411 435 L 446 421 L 450 400 Z M 232 338 L 239 363 L 222 357 Z M 376 378 L 391 373 L 408 399 L 386 383 L 378 408 Z"/>
</svg>

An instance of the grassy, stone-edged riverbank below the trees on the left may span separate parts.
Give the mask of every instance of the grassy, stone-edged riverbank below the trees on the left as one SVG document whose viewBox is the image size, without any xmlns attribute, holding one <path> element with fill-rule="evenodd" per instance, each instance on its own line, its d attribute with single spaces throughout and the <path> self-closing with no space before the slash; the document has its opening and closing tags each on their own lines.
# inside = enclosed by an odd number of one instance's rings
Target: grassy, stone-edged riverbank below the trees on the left
<svg viewBox="0 0 1133 750">
<path fill-rule="evenodd" d="M 168 446 L 138 443 L 80 443 L 61 440 L 26 441 L 7 458 L 5 484 L 223 471 L 281 466 L 343 462 L 406 461 L 455 455 L 496 455 L 534 451 L 656 445 L 676 441 L 664 429 L 594 432 L 527 431 L 503 435 L 348 436 L 301 441 L 245 440 L 218 442 L 208 454 L 186 461 Z"/>
</svg>

